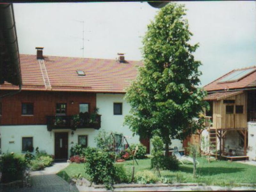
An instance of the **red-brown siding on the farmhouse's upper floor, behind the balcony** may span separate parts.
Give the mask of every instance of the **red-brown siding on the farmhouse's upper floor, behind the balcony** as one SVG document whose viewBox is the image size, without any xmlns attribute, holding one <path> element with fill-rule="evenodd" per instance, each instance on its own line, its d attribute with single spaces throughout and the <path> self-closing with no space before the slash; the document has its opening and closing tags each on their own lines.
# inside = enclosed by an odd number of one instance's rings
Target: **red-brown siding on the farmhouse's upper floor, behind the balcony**
<svg viewBox="0 0 256 192">
<path fill-rule="evenodd" d="M 21 103 L 34 103 L 34 115 L 21 115 Z M 96 94 L 22 91 L 2 99 L 1 125 L 46 124 L 46 116 L 55 115 L 56 103 L 67 103 L 68 116 L 79 113 L 79 103 L 89 103 L 92 112 L 96 107 Z"/>
</svg>

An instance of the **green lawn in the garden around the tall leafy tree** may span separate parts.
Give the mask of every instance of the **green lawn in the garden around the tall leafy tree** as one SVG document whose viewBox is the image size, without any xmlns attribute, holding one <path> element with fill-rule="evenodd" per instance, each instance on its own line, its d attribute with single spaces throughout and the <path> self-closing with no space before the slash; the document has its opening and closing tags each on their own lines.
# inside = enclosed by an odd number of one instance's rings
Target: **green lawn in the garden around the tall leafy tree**
<svg viewBox="0 0 256 192">
<path fill-rule="evenodd" d="M 137 161 L 139 165 L 135 163 L 135 173 L 143 170 L 151 170 L 149 158 Z M 236 186 L 239 183 L 256 184 L 256 166 L 228 161 L 212 161 L 209 164 L 203 157 L 198 158 L 198 161 L 200 164 L 197 167 L 196 179 L 193 178 L 192 164 L 180 164 L 178 171 L 161 171 L 161 176 L 170 178 L 172 182 L 206 183 L 207 185 Z M 131 172 L 132 170 L 132 161 L 116 164 L 124 164 L 127 172 Z M 84 173 L 83 164 L 70 164 L 58 173 L 58 175 L 62 177 L 66 175 L 66 177 L 71 178 L 78 173 L 81 173 L 85 178 L 89 178 Z"/>
</svg>

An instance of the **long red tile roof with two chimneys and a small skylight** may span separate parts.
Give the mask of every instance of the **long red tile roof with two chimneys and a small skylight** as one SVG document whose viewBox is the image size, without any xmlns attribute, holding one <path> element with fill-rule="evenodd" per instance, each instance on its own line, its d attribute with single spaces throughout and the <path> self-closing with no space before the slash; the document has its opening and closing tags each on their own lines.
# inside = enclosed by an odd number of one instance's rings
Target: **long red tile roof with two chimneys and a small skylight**
<svg viewBox="0 0 256 192">
<path fill-rule="evenodd" d="M 119 63 L 116 60 L 56 56 L 44 56 L 44 63 L 40 64 L 36 55 L 20 54 L 22 90 L 124 93 L 136 78 L 139 66 L 142 66 L 141 61 Z M 78 76 L 77 70 L 84 71 L 85 76 Z M 0 89 L 18 87 L 5 83 Z"/>
</svg>

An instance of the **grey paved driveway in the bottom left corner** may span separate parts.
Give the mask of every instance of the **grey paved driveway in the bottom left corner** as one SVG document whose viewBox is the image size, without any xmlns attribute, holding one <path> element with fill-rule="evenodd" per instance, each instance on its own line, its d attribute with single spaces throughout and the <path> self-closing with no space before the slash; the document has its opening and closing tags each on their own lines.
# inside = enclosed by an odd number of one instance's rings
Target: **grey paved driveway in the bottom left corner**
<svg viewBox="0 0 256 192">
<path fill-rule="evenodd" d="M 75 185 L 68 184 L 55 174 L 31 176 L 32 187 L 14 188 L 0 186 L 0 192 L 78 192 Z"/>
</svg>

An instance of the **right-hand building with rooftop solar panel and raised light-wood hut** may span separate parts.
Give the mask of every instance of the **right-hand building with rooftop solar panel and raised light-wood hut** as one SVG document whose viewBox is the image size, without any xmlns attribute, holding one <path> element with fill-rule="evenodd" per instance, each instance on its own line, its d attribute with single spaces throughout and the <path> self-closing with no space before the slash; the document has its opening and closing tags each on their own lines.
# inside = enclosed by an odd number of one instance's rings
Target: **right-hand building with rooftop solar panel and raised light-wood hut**
<svg viewBox="0 0 256 192">
<path fill-rule="evenodd" d="M 256 66 L 232 70 L 204 90 L 210 123 L 201 134 L 210 140 L 214 149 L 210 153 L 230 160 L 256 160 Z"/>
</svg>

